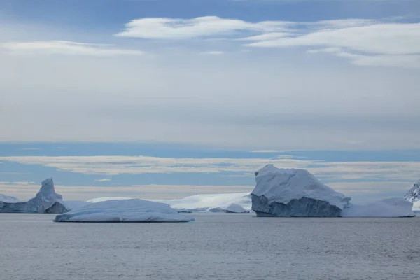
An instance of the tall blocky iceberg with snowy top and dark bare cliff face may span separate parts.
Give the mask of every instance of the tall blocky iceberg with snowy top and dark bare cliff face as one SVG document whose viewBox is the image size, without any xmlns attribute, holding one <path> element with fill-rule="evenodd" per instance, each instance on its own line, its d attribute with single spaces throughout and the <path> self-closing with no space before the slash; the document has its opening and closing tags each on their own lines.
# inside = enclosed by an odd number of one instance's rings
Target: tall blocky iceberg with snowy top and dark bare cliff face
<svg viewBox="0 0 420 280">
<path fill-rule="evenodd" d="M 255 172 L 251 193 L 257 216 L 339 217 L 350 197 L 337 193 L 304 169 L 267 165 Z"/>
</svg>

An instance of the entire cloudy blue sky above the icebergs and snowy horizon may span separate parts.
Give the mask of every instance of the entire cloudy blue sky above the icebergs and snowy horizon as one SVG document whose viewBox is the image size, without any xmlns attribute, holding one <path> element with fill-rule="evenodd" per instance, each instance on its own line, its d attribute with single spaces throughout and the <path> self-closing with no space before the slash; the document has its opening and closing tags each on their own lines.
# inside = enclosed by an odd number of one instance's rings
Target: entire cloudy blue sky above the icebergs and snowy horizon
<svg viewBox="0 0 420 280">
<path fill-rule="evenodd" d="M 234 193 L 274 162 L 360 201 L 400 195 L 420 178 L 419 11 L 0 0 L 0 193 L 46 176 L 72 199 Z"/>
</svg>

